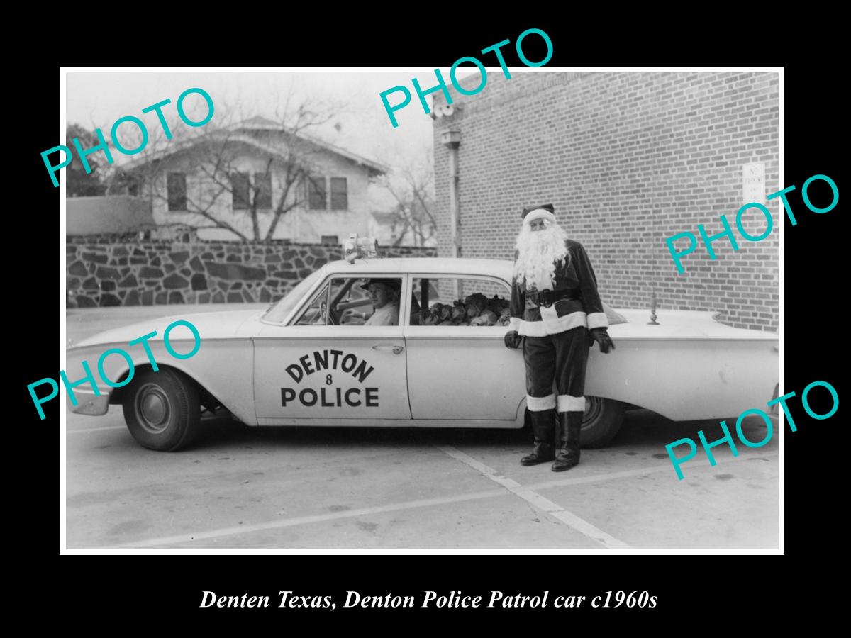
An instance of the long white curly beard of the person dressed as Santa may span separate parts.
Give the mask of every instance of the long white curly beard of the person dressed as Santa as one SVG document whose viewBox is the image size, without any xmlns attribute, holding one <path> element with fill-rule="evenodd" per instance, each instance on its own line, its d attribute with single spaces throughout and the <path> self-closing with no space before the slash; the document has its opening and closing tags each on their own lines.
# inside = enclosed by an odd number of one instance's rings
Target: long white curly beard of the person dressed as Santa
<svg viewBox="0 0 851 638">
<path fill-rule="evenodd" d="M 552 290 L 556 288 L 556 267 L 558 262 L 567 259 L 570 253 L 565 244 L 568 234 L 557 224 L 541 231 L 533 231 L 528 225 L 517 236 L 517 261 L 514 262 L 514 276 L 517 283 L 526 282 L 527 288 Z"/>
</svg>

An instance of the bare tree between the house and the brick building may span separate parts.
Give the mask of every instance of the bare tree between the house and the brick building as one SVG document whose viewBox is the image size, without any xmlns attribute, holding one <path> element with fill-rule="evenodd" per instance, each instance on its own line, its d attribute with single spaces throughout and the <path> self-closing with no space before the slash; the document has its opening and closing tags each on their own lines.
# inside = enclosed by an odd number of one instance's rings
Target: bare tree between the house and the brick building
<svg viewBox="0 0 851 638">
<path fill-rule="evenodd" d="M 426 246 L 437 234 L 434 217 L 434 160 L 427 151 L 413 162 L 398 164 L 393 174 L 382 175 L 379 184 L 396 200 L 396 225 L 400 229 L 394 246 L 401 244 L 408 232 L 416 246 Z"/>
</svg>

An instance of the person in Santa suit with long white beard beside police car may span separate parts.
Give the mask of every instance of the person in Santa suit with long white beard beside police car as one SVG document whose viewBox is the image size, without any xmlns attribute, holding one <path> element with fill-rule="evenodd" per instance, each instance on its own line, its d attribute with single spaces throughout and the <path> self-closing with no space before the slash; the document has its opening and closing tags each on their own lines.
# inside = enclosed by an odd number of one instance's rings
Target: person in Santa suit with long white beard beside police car
<svg viewBox="0 0 851 638">
<path fill-rule="evenodd" d="M 580 461 L 588 349 L 597 341 L 608 353 L 614 343 L 585 248 L 557 224 L 552 204 L 525 208 L 521 216 L 505 334 L 506 347 L 523 345 L 534 433 L 534 449 L 520 462 L 554 459 L 551 470 L 560 472 Z"/>
</svg>

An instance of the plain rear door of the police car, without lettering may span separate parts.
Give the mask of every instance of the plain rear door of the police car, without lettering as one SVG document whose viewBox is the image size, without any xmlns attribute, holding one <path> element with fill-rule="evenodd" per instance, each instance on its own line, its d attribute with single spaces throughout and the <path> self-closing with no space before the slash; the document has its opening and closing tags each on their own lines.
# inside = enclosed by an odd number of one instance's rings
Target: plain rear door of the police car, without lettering
<svg viewBox="0 0 851 638">
<path fill-rule="evenodd" d="M 410 284 L 412 316 L 420 308 L 420 321 L 411 322 L 419 325 L 405 328 L 408 396 L 414 419 L 517 419 L 526 396 L 526 377 L 522 350 L 505 348 L 508 327 L 499 322 L 470 325 L 475 317 L 469 312 L 463 320 L 467 325 L 460 321 L 455 325 L 451 315 L 440 322 L 433 316 L 436 304 L 454 305 L 455 299 L 474 293 L 487 296 L 494 310 L 499 305 L 507 307 L 511 299 L 508 284 L 495 277 L 415 274 Z"/>
</svg>

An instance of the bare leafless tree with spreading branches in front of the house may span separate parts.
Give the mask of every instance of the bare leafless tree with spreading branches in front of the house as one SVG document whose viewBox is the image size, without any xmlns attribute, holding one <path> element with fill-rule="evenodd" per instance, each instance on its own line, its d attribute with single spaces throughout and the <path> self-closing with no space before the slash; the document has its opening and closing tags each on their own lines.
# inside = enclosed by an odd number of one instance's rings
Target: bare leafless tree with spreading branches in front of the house
<svg viewBox="0 0 851 638">
<path fill-rule="evenodd" d="M 216 109 L 214 120 L 188 136 L 186 127 L 175 122 L 172 131 L 185 134 L 180 142 L 168 140 L 162 129 L 153 129 L 146 147 L 149 159 L 117 171 L 113 187 L 145 192 L 151 206 L 155 201 L 169 202 L 169 197 L 174 202 L 167 173 L 179 166 L 186 174 L 186 192 L 178 193 L 180 205 L 203 220 L 187 225 L 225 229 L 243 242 L 270 240 L 284 215 L 306 206 L 309 185 L 324 193 L 324 181 L 312 177 L 318 173 L 314 160 L 323 145 L 311 139 L 310 132 L 339 115 L 342 107 L 298 101 L 290 92 L 283 101 L 279 96 L 274 118 L 246 122 L 238 108 L 222 103 Z M 122 143 L 132 142 L 122 138 Z M 246 170 L 247 155 L 256 158 L 248 162 L 253 171 Z M 250 231 L 232 223 L 241 214 L 248 216 Z M 265 214 L 269 225 L 263 231 L 260 219 Z"/>
</svg>

